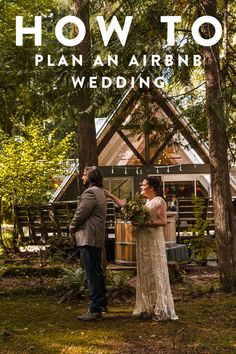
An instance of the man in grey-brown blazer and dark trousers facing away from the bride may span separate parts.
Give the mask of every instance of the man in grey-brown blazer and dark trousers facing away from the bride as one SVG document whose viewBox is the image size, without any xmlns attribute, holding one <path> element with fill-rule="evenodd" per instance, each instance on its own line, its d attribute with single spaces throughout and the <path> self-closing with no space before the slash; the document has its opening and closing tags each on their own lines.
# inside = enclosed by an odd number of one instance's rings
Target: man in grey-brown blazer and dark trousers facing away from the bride
<svg viewBox="0 0 236 354">
<path fill-rule="evenodd" d="M 102 269 L 107 201 L 102 188 L 103 178 L 97 167 L 86 167 L 82 181 L 87 189 L 81 195 L 69 228 L 80 248 L 90 294 L 89 311 L 78 319 L 93 321 L 102 317 L 107 306 Z"/>
</svg>

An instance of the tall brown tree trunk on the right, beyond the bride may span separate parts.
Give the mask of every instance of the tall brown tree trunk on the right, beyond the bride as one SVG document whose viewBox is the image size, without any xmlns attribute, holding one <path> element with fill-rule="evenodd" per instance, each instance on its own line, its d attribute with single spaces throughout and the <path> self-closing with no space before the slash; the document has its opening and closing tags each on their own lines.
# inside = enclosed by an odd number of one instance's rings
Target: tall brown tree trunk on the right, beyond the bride
<svg viewBox="0 0 236 354">
<path fill-rule="evenodd" d="M 216 17 L 216 0 L 201 0 L 201 7 L 202 15 Z M 204 25 L 203 34 L 205 38 L 211 38 L 213 27 Z M 236 289 L 236 216 L 230 191 L 219 46 L 215 44 L 203 48 L 217 254 L 222 285 L 225 290 L 231 291 Z"/>
</svg>

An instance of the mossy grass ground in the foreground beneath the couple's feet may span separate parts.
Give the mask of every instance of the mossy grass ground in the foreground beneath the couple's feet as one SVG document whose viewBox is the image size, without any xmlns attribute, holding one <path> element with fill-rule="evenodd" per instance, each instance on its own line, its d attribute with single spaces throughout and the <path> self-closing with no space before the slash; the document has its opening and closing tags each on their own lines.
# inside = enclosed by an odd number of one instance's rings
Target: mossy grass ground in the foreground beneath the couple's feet
<svg viewBox="0 0 236 354">
<path fill-rule="evenodd" d="M 76 317 L 86 311 L 85 300 L 2 297 L 0 353 L 236 353 L 235 294 L 219 290 L 217 274 L 186 275 L 173 293 L 179 321 L 160 323 L 134 318 L 134 298 L 113 299 L 101 321 L 83 323 Z"/>
</svg>

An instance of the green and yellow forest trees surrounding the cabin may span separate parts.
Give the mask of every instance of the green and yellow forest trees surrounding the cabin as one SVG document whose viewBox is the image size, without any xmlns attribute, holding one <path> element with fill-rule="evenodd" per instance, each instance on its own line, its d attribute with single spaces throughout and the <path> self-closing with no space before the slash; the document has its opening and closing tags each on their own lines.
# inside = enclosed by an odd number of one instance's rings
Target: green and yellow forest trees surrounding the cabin
<svg viewBox="0 0 236 354">
<path fill-rule="evenodd" d="M 209 144 L 221 280 L 226 289 L 235 289 L 236 221 L 229 184 L 229 167 L 235 164 L 234 2 L 3 0 L 0 14 L 1 208 L 47 200 L 48 189 L 55 184 L 53 176 L 59 173 L 60 161 L 65 158 L 79 157 L 81 169 L 86 163 L 97 164 L 94 118 L 107 116 L 124 94 L 114 87 L 74 89 L 72 75 L 118 75 L 116 67 L 91 68 L 91 60 L 97 54 L 118 54 L 122 58 L 120 73 L 130 77 L 137 76 L 137 68 L 127 67 L 133 53 L 140 57 L 153 53 L 202 53 L 203 67 L 163 66 L 148 70 L 154 76 L 161 73 L 165 77 L 166 93 L 202 141 Z M 87 29 L 85 40 L 76 48 L 63 47 L 54 35 L 56 22 L 68 14 L 80 17 Z M 120 23 L 125 16 L 134 15 L 125 47 L 116 35 L 104 47 L 95 20 L 104 14 L 108 22 L 117 16 Z M 15 16 L 24 16 L 25 25 L 32 26 L 36 15 L 43 16 L 43 45 L 34 46 L 32 36 L 26 36 L 24 46 L 17 47 Z M 182 17 L 176 24 L 177 41 L 173 47 L 166 46 L 166 24 L 160 23 L 160 16 L 165 15 Z M 202 15 L 218 18 L 223 27 L 221 41 L 212 47 L 200 47 L 191 35 L 194 20 Z M 74 27 L 65 28 L 65 34 L 71 37 L 75 31 Z M 212 26 L 202 27 L 205 38 L 211 38 L 213 32 Z M 35 54 L 53 53 L 56 60 L 62 51 L 68 56 L 83 54 L 85 65 L 35 67 Z M 140 127 L 138 123 L 136 127 Z M 158 132 L 158 124 L 141 123 L 150 134 Z M 45 163 L 38 163 L 39 159 Z"/>
</svg>

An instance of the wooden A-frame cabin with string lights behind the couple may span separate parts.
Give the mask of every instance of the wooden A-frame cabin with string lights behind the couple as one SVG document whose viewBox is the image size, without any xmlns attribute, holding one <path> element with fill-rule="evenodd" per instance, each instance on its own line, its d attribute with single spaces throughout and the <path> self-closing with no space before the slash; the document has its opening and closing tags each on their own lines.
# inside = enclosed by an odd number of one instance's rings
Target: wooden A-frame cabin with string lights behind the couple
<svg viewBox="0 0 236 354">
<path fill-rule="evenodd" d="M 130 134 L 127 130 L 134 115 L 146 114 L 144 101 L 151 105 L 152 116 L 168 126 L 166 135 L 162 134 L 162 139 L 154 143 L 150 143 L 150 134 Z M 148 90 L 129 89 L 107 118 L 96 119 L 96 127 L 99 166 L 105 187 L 118 191 L 119 196 L 137 192 L 140 180 L 147 174 L 162 178 L 166 194 L 172 188 L 180 197 L 185 196 L 181 195 L 181 190 L 186 190 L 188 196 L 198 191 L 211 196 L 208 146 L 161 89 L 154 85 Z M 172 143 L 175 138 L 178 145 Z M 54 193 L 52 202 L 77 199 L 77 170 L 75 164 Z M 236 195 L 233 179 L 231 187 Z"/>
</svg>

